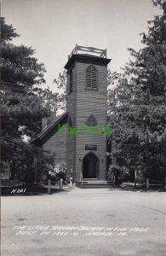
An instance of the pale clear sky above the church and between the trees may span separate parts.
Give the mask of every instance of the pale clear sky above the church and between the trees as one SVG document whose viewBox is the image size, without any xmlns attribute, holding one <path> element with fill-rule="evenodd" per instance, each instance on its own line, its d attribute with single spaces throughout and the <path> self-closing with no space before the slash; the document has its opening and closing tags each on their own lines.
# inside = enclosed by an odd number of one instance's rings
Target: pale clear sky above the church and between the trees
<svg viewBox="0 0 166 256">
<path fill-rule="evenodd" d="M 1 15 L 20 38 L 14 44 L 36 49 L 47 73 L 46 85 L 63 72 L 75 45 L 107 49 L 109 67 L 120 71 L 129 61 L 128 48 L 140 49 L 140 33 L 160 10 L 151 0 L 2 0 Z"/>
</svg>

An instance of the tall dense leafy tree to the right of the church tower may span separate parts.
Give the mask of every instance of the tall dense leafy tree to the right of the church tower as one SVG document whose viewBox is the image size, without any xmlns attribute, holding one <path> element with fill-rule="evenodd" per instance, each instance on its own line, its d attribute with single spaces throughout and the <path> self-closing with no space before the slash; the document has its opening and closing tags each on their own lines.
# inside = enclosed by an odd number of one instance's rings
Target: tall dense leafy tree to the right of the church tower
<svg viewBox="0 0 166 256">
<path fill-rule="evenodd" d="M 117 84 L 108 94 L 108 113 L 117 143 L 117 161 L 133 174 L 150 173 L 163 179 L 163 145 L 165 142 L 165 52 L 166 3 L 153 0 L 163 15 L 148 21 L 148 33 L 142 33 L 144 47 L 129 49 L 132 60 L 123 73 L 110 74 Z"/>
</svg>

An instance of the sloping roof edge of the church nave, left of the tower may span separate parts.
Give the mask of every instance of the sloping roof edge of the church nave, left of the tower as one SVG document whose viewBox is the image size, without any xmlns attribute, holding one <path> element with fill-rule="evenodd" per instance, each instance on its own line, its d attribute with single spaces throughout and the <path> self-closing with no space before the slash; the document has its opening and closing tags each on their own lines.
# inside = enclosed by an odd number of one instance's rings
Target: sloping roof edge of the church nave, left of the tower
<svg viewBox="0 0 166 256">
<path fill-rule="evenodd" d="M 47 127 L 41 131 L 37 137 L 31 140 L 31 144 L 35 144 L 36 146 L 42 146 L 43 143 L 47 142 L 50 137 L 54 135 L 58 131 L 58 125 L 64 125 L 67 122 L 68 112 L 62 113 L 59 117 L 54 119 Z"/>
</svg>

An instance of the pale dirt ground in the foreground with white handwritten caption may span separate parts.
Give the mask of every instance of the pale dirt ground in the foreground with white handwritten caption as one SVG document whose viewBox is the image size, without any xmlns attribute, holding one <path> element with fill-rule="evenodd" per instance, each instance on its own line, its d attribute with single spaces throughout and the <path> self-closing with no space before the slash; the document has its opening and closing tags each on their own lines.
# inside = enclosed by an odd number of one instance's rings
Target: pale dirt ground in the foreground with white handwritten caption
<svg viewBox="0 0 166 256">
<path fill-rule="evenodd" d="M 75 188 L 5 196 L 2 256 L 165 256 L 165 219 L 159 192 Z"/>
</svg>

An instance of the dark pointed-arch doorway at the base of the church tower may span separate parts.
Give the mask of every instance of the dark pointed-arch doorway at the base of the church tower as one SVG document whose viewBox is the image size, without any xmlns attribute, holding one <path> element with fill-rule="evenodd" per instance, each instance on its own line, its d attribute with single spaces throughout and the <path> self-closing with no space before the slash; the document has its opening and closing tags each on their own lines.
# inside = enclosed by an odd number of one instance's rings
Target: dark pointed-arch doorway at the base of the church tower
<svg viewBox="0 0 166 256">
<path fill-rule="evenodd" d="M 90 152 L 83 158 L 83 178 L 97 178 L 98 176 L 98 158 Z"/>
</svg>

